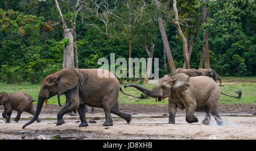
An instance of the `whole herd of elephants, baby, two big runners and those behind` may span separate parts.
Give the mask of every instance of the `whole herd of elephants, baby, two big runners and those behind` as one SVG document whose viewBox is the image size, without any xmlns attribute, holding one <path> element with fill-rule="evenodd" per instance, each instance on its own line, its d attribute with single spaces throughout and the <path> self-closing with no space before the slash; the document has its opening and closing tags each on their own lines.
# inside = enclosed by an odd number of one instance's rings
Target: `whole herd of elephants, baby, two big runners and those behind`
<svg viewBox="0 0 256 151">
<path fill-rule="evenodd" d="M 10 117 L 13 110 L 17 111 L 14 121 L 19 121 L 20 115 L 26 111 L 34 117 L 24 124 L 22 128 L 27 127 L 35 120 L 40 122 L 39 114 L 42 110 L 43 103 L 55 95 L 65 94 L 65 105 L 57 114 L 56 125 L 64 124 L 63 115 L 71 111 L 78 111 L 81 123 L 79 127 L 87 127 L 88 123 L 85 117 L 86 105 L 90 107 L 103 108 L 106 120 L 103 126 L 113 125 L 112 114 L 118 115 L 125 119 L 127 123 L 131 121 L 131 115 L 118 109 L 118 93 L 123 92 L 119 81 L 108 70 L 109 78 L 98 77 L 98 69 L 72 69 L 64 68 L 59 72 L 48 75 L 40 88 L 38 94 L 38 104 L 36 110 L 33 107 L 34 99 L 30 95 L 22 92 L 18 93 L 0 93 L 0 105 L 5 107 L 2 113 L 6 123 L 10 123 Z M 142 92 L 141 97 L 152 97 L 158 101 L 168 98 L 168 112 L 170 124 L 175 124 L 175 114 L 177 107 L 185 109 L 185 120 L 188 123 L 198 122 L 194 114 L 197 112 L 206 112 L 203 124 L 210 123 L 210 115 L 213 115 L 217 124 L 222 125 L 220 115 L 218 115 L 217 101 L 221 94 L 220 87 L 216 81 L 221 77 L 213 69 L 182 69 L 178 68 L 172 75 L 165 75 L 160 78 L 152 90 L 145 89 L 136 84 L 128 84 L 126 87 L 135 87 Z M 238 96 L 228 95 L 229 97 L 241 98 L 241 90 L 236 91 Z M 60 103 L 59 103 L 60 104 Z"/>
</svg>

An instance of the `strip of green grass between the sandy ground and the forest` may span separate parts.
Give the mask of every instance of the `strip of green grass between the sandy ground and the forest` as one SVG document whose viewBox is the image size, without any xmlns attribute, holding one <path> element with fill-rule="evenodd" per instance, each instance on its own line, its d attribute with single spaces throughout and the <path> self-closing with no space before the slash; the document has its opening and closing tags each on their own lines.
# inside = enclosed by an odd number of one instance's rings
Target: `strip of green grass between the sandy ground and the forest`
<svg viewBox="0 0 256 151">
<path fill-rule="evenodd" d="M 234 103 L 246 103 L 246 104 L 256 104 L 256 82 L 255 77 L 224 77 L 222 78 L 223 82 L 234 82 L 229 85 L 221 86 L 221 91 L 226 94 L 237 96 L 235 91 L 242 91 L 242 98 L 236 99 L 221 95 L 219 98 L 218 104 L 234 104 Z M 138 85 L 143 86 L 141 83 L 134 82 Z M 135 89 L 134 87 L 127 87 L 126 89 L 123 86 L 126 84 L 121 84 L 123 91 L 125 93 L 141 96 L 141 92 Z M 20 85 L 10 85 L 4 82 L 0 82 L 0 92 L 13 93 L 13 92 L 24 92 L 29 94 L 33 99 L 38 99 L 38 93 L 41 85 L 31 85 L 30 83 L 24 82 Z M 152 89 L 154 85 L 143 86 L 146 89 Z M 60 97 L 61 104 L 65 103 L 65 95 Z M 155 98 L 146 98 L 146 99 L 137 99 L 119 92 L 118 102 L 121 104 L 168 104 L 168 98 L 164 99 L 161 102 L 155 102 Z M 35 102 L 36 104 L 37 102 Z M 57 96 L 52 97 L 48 100 L 49 104 L 58 104 Z"/>
</svg>

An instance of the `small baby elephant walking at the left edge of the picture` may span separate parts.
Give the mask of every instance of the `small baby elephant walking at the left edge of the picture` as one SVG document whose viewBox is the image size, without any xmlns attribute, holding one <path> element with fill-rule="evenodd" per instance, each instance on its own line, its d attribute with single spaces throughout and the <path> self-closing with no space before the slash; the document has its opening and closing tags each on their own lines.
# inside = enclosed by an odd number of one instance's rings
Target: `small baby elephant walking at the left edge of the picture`
<svg viewBox="0 0 256 151">
<path fill-rule="evenodd" d="M 3 105 L 5 107 L 2 114 L 3 118 L 6 119 L 5 123 L 10 123 L 11 112 L 13 110 L 18 112 L 16 118 L 14 118 L 16 122 L 19 121 L 23 111 L 34 115 L 35 109 L 32 102 L 35 101 L 26 93 L 0 93 L 0 106 Z M 36 121 L 40 122 L 41 120 L 38 118 Z"/>
</svg>

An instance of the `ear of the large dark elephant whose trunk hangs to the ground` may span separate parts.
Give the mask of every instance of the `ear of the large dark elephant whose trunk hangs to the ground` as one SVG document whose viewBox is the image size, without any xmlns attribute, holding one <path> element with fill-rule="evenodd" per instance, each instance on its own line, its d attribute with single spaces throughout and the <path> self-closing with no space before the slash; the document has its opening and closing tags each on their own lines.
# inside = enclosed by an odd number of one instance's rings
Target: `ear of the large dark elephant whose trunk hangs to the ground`
<svg viewBox="0 0 256 151">
<path fill-rule="evenodd" d="M 79 75 L 72 68 L 64 68 L 59 72 L 56 72 L 57 75 L 56 84 L 57 91 L 59 94 L 63 94 L 66 91 L 73 89 L 79 80 Z"/>
</svg>

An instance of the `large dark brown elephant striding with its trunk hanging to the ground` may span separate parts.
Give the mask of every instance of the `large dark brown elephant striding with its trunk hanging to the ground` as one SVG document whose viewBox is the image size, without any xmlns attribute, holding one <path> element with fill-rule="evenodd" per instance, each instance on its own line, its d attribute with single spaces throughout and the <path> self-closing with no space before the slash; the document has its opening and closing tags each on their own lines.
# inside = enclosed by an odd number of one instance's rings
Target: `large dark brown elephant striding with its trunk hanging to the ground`
<svg viewBox="0 0 256 151">
<path fill-rule="evenodd" d="M 104 71 L 104 74 L 109 75 L 109 77 L 99 77 L 98 70 Z M 88 126 L 85 117 L 85 105 L 104 109 L 106 116 L 104 126 L 113 125 L 110 113 L 118 115 L 125 119 L 127 123 L 130 123 L 131 115 L 118 109 L 119 91 L 123 93 L 117 78 L 108 70 L 62 69 L 59 72 L 48 75 L 44 79 L 39 91 L 38 106 L 36 107 L 35 115 L 22 128 L 33 123 L 42 110 L 44 100 L 46 100 L 47 105 L 47 100 L 56 94 L 65 94 L 66 97 L 65 105 L 57 114 L 56 125 L 65 123 L 63 120 L 64 114 L 78 110 L 81 120 L 79 127 Z"/>
</svg>

